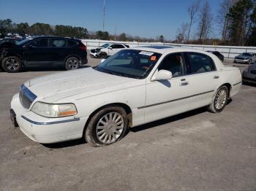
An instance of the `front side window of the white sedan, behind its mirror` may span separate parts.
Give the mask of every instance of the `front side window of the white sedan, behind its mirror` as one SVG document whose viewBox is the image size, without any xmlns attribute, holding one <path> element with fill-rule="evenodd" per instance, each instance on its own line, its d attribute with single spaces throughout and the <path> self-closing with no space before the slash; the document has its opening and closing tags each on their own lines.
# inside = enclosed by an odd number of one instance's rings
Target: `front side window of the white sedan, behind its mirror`
<svg viewBox="0 0 256 191">
<path fill-rule="evenodd" d="M 159 70 L 170 71 L 173 77 L 181 76 L 184 73 L 181 53 L 167 55 L 160 64 Z"/>
</svg>

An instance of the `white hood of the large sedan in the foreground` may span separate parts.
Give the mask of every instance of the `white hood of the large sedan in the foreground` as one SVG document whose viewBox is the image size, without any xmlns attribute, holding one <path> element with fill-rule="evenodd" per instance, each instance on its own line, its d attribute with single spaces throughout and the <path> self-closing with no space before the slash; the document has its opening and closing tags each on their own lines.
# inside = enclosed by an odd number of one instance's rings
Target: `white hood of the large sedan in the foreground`
<svg viewBox="0 0 256 191">
<path fill-rule="evenodd" d="M 143 85 L 143 81 L 106 74 L 89 67 L 37 77 L 25 82 L 24 85 L 37 95 L 35 101 L 54 103 L 72 95 L 83 94 L 83 98 L 86 98 L 91 95 Z"/>
</svg>

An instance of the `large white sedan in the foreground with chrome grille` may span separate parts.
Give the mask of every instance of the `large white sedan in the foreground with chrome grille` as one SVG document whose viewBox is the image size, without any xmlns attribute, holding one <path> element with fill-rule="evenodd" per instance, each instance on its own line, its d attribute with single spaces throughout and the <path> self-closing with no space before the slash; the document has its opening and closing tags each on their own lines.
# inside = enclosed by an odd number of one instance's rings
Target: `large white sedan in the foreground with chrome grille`
<svg viewBox="0 0 256 191">
<path fill-rule="evenodd" d="M 120 140 L 128 128 L 207 106 L 221 112 L 241 87 L 241 72 L 215 55 L 180 47 L 136 47 L 97 67 L 25 82 L 12 98 L 11 118 L 30 139 Z"/>
</svg>

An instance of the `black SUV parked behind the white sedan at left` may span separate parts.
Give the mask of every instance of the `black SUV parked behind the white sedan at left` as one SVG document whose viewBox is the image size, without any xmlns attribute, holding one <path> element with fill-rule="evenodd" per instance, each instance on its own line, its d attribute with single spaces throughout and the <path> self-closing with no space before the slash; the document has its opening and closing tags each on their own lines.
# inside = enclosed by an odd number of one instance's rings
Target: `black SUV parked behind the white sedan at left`
<svg viewBox="0 0 256 191">
<path fill-rule="evenodd" d="M 78 39 L 39 36 L 17 44 L 5 44 L 0 50 L 1 68 L 18 72 L 23 66 L 60 63 L 65 69 L 78 69 L 87 63 L 86 46 Z"/>
</svg>

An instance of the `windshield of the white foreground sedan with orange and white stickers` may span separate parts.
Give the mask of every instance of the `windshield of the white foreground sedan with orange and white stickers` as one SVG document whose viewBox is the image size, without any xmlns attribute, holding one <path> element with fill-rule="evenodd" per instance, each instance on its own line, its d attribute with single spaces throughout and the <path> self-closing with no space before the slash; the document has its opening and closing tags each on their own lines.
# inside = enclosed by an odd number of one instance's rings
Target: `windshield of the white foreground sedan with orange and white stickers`
<svg viewBox="0 0 256 191">
<path fill-rule="evenodd" d="M 95 67 L 97 71 L 122 77 L 143 79 L 148 76 L 161 54 L 143 50 L 120 50 Z"/>
</svg>

